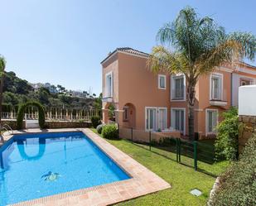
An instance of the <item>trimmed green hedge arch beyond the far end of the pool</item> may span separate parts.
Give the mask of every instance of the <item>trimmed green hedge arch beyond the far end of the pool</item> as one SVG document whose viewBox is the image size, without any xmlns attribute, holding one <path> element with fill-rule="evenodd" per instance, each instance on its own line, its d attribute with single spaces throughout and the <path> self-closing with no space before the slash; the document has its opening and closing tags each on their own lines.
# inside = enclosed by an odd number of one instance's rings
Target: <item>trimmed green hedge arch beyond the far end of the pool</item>
<svg viewBox="0 0 256 206">
<path fill-rule="evenodd" d="M 22 129 L 22 122 L 25 115 L 25 109 L 29 106 L 34 106 L 38 109 L 38 122 L 39 127 L 41 129 L 46 127 L 46 117 L 45 117 L 45 109 L 41 105 L 41 103 L 38 102 L 27 102 L 22 105 L 20 105 L 18 112 L 17 112 L 17 129 Z"/>
</svg>

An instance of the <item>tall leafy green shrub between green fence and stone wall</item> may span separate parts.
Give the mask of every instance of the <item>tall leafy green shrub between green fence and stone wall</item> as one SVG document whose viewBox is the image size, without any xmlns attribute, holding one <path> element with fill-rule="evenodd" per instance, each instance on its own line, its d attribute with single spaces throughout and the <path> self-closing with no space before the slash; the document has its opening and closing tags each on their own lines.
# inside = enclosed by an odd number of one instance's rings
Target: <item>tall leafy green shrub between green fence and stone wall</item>
<svg viewBox="0 0 256 206">
<path fill-rule="evenodd" d="M 217 126 L 218 135 L 215 141 L 215 154 L 217 159 L 225 157 L 226 160 L 237 160 L 239 116 L 237 108 L 229 108 L 222 114 L 224 120 Z"/>
</svg>

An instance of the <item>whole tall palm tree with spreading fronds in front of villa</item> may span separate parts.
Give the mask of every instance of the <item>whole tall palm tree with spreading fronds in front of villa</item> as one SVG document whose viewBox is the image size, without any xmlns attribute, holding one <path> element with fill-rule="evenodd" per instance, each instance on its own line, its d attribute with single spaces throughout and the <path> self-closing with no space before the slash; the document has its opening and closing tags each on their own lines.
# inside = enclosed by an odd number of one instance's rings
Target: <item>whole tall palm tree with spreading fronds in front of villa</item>
<svg viewBox="0 0 256 206">
<path fill-rule="evenodd" d="M 254 60 L 256 38 L 248 32 L 228 34 L 212 18 L 200 18 L 192 7 L 185 7 L 174 22 L 162 26 L 157 40 L 161 46 L 152 48 L 148 65 L 154 72 L 185 75 L 189 137 L 194 139 L 195 87 L 198 79 L 224 63 L 233 65 L 244 57 Z"/>
</svg>

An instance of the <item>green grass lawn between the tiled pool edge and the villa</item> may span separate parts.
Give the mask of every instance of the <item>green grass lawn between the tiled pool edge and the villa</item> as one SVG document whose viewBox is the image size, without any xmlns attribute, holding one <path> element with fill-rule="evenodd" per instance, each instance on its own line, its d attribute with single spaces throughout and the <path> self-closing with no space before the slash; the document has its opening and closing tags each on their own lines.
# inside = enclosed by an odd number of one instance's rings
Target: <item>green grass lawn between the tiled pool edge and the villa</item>
<svg viewBox="0 0 256 206">
<path fill-rule="evenodd" d="M 97 133 L 95 129 L 92 129 L 92 131 Z M 148 194 L 117 205 L 197 206 L 207 203 L 210 189 L 212 189 L 215 182 L 215 177 L 195 171 L 189 166 L 178 164 L 176 162 L 176 155 L 171 152 L 162 151 L 157 148 L 153 148 L 153 152 L 148 151 L 147 146 L 143 148 L 126 140 L 108 141 L 171 184 L 171 189 L 165 189 L 155 194 Z M 157 152 L 161 154 L 157 154 Z M 191 158 L 184 156 L 181 159 L 191 161 Z M 201 167 L 205 167 L 205 170 L 214 170 L 215 173 L 223 170 L 222 165 L 208 165 L 202 162 L 199 162 L 199 164 Z M 203 194 L 200 197 L 193 196 L 189 193 L 191 189 L 195 188 L 202 191 Z"/>
</svg>

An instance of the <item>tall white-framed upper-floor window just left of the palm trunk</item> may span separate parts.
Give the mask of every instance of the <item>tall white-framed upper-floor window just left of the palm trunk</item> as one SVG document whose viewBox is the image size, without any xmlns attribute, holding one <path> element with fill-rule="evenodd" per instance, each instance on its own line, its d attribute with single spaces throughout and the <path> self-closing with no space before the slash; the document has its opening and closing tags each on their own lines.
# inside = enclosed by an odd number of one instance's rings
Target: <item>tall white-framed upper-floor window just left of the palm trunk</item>
<svg viewBox="0 0 256 206">
<path fill-rule="evenodd" d="M 171 77 L 171 99 L 185 100 L 185 77 L 184 75 Z"/>
</svg>

